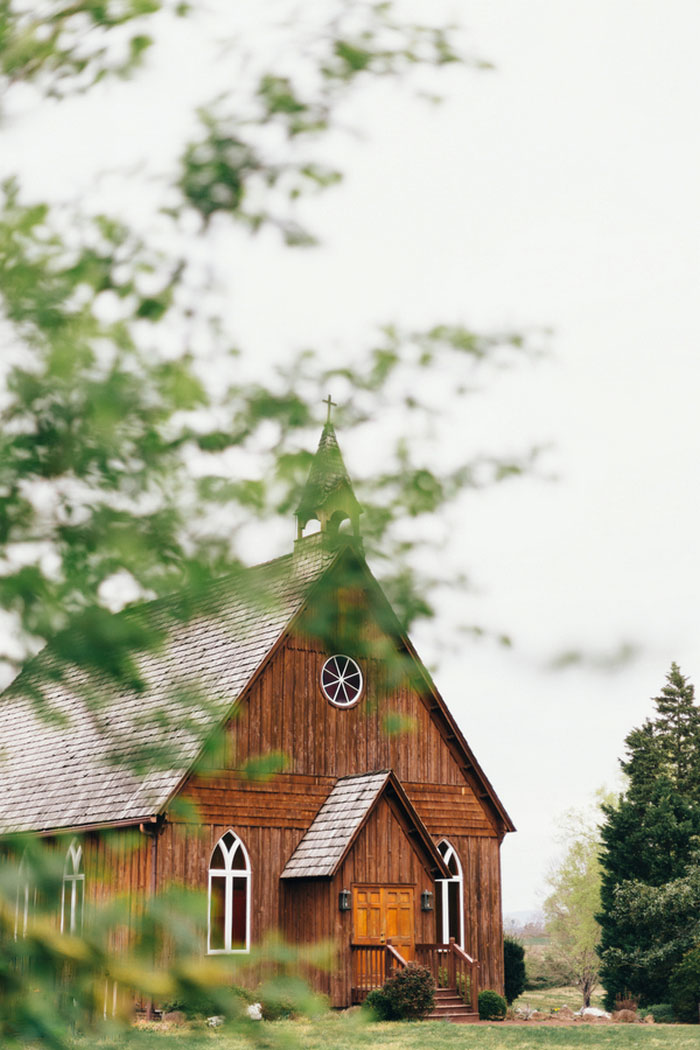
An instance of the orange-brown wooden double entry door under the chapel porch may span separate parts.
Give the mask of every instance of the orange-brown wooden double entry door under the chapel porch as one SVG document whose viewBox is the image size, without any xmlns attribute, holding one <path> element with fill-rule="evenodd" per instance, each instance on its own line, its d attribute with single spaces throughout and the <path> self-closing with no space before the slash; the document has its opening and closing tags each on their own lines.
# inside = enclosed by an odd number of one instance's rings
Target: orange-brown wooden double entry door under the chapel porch
<svg viewBox="0 0 700 1050">
<path fill-rule="evenodd" d="M 405 960 L 416 953 L 412 886 L 354 886 L 353 943 L 393 945 Z"/>
</svg>

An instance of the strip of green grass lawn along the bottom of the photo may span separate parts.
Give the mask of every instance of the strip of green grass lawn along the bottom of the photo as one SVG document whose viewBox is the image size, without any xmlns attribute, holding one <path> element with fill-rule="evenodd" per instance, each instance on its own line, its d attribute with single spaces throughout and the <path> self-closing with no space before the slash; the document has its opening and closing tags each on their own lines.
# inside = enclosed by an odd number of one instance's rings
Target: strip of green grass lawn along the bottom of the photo
<svg viewBox="0 0 700 1050">
<path fill-rule="evenodd" d="M 80 1040 L 76 1050 L 699 1050 L 685 1025 L 365 1024 L 357 1013 L 314 1022 L 251 1023 L 248 1033 L 184 1028 Z"/>
</svg>

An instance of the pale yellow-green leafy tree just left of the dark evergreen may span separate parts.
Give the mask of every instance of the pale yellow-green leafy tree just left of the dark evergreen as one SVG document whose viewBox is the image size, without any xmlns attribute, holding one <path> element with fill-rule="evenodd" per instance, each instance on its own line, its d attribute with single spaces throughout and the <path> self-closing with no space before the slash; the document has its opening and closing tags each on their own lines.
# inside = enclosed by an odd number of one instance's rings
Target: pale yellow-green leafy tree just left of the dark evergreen
<svg viewBox="0 0 700 1050">
<path fill-rule="evenodd" d="M 582 814 L 570 814 L 566 852 L 549 876 L 551 892 L 544 910 L 550 939 L 550 962 L 564 968 L 580 991 L 584 1006 L 598 983 L 600 926 L 600 840 L 597 827 Z"/>
</svg>

